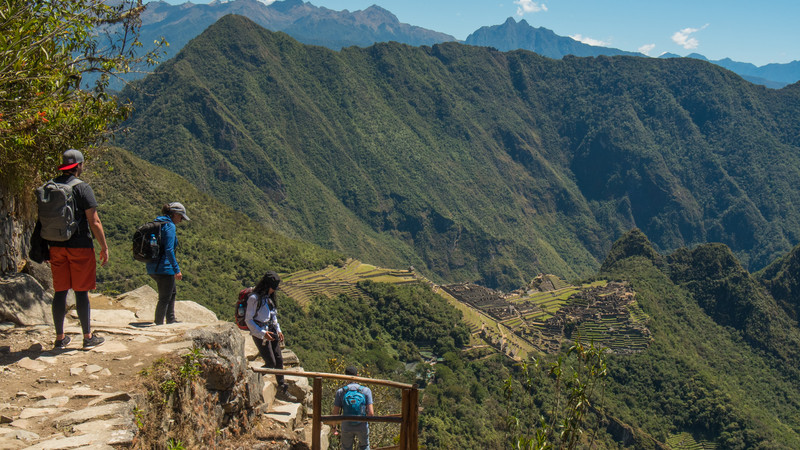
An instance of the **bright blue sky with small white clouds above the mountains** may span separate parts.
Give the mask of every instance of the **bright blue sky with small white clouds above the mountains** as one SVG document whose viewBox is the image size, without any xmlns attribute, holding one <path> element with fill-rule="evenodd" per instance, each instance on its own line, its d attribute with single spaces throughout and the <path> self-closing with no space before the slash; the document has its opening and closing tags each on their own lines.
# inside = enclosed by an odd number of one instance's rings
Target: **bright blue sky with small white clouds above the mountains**
<svg viewBox="0 0 800 450">
<path fill-rule="evenodd" d="M 183 3 L 183 0 L 167 0 Z M 271 3 L 271 0 L 261 0 Z M 194 0 L 193 3 L 208 3 Z M 375 4 L 401 22 L 466 37 L 509 17 L 592 45 L 699 53 L 757 66 L 800 60 L 800 0 L 310 0 L 356 11 Z"/>
</svg>

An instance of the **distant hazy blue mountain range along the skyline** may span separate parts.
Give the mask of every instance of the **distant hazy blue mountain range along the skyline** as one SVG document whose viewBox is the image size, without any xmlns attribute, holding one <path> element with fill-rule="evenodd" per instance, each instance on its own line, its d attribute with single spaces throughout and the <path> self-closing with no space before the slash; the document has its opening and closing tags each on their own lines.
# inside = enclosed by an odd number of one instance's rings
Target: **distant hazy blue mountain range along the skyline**
<svg viewBox="0 0 800 450">
<path fill-rule="evenodd" d="M 152 42 L 165 36 L 170 42 L 164 55 L 164 59 L 168 59 L 190 39 L 199 35 L 225 14 L 244 15 L 270 30 L 284 31 L 306 44 L 322 45 L 334 50 L 352 45 L 366 47 L 376 42 L 388 41 L 414 46 L 458 41 L 445 33 L 400 23 L 390 11 L 377 5 L 350 12 L 315 7 L 302 0 L 282 0 L 269 5 L 258 0 L 233 0 L 209 4 L 187 2 L 182 5 L 170 5 L 163 1 L 150 2 L 142 16 L 142 42 Z M 524 19 L 516 22 L 512 17 L 503 24 L 483 26 L 475 30 L 465 42 L 500 50 L 531 50 L 554 59 L 561 59 L 570 54 L 585 57 L 644 56 L 637 52 L 584 44 L 570 37 L 558 36 L 546 28 L 534 28 Z M 659 57 L 681 56 L 663 54 Z M 709 61 L 699 54 L 690 54 L 687 57 Z M 730 58 L 711 62 L 739 74 L 752 83 L 773 89 L 800 80 L 800 61 L 786 64 L 772 63 L 761 67 L 732 61 Z M 130 74 L 126 79 L 140 77 L 139 74 Z"/>
</svg>

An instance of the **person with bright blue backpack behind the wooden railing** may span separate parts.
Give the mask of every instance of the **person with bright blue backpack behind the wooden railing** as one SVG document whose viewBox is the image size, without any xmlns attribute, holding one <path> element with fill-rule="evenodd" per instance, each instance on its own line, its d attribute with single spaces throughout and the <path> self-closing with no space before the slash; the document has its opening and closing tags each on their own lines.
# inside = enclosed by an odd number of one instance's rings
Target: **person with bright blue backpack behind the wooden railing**
<svg viewBox="0 0 800 450">
<path fill-rule="evenodd" d="M 355 367 L 348 367 L 344 371 L 345 375 L 352 377 L 358 376 Z M 375 409 L 372 406 L 372 391 L 361 386 L 355 381 L 347 386 L 339 388 L 333 398 L 333 415 L 344 416 L 374 416 Z M 369 423 L 344 421 L 341 426 L 341 442 L 343 450 L 352 450 L 354 441 L 358 439 L 358 450 L 369 450 Z"/>
</svg>

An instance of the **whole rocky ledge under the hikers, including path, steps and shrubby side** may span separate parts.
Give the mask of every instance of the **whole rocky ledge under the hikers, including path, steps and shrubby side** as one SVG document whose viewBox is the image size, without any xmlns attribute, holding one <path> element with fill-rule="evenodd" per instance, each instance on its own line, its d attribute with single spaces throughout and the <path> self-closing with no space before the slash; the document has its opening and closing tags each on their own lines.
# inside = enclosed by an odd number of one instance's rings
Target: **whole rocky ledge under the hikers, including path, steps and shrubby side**
<svg viewBox="0 0 800 450">
<path fill-rule="evenodd" d="M 162 448 L 168 440 L 185 448 L 310 446 L 305 377 L 287 377 L 298 403 L 276 400 L 275 377 L 252 370 L 262 361 L 245 331 L 205 313 L 189 315 L 203 312 L 196 304 L 184 305 L 183 323 L 145 324 L 136 317 L 143 309 L 130 302 L 154 291 L 137 291 L 125 296 L 127 308 L 123 296 L 91 297 L 92 328 L 106 342 L 90 351 L 79 350 L 72 313 L 66 349 L 52 349 L 52 321 L 0 327 L 0 449 Z M 284 354 L 297 361 L 288 349 Z"/>
</svg>

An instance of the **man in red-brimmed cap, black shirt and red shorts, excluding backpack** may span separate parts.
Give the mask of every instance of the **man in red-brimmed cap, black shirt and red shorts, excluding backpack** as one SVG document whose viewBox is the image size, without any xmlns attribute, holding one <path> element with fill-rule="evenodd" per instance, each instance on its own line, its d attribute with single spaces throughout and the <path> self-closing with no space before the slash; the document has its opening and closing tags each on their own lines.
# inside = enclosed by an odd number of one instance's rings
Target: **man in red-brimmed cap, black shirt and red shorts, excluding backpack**
<svg viewBox="0 0 800 450">
<path fill-rule="evenodd" d="M 83 172 L 83 154 L 69 149 L 61 156 L 61 175 L 53 181 L 72 185 L 77 230 L 66 241 L 48 241 L 50 269 L 53 272 L 53 322 L 56 328 L 55 348 L 65 348 L 70 337 L 64 334 L 64 317 L 67 312 L 67 293 L 75 291 L 75 309 L 83 331 L 85 350 L 101 345 L 105 339 L 92 333 L 90 327 L 91 305 L 89 291 L 95 288 L 97 260 L 92 235 L 100 244 L 100 263 L 108 262 L 108 245 L 103 224 L 97 215 L 97 200 L 87 183 L 78 180 Z"/>
</svg>

